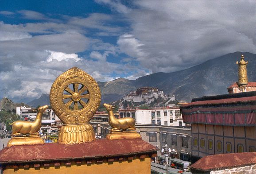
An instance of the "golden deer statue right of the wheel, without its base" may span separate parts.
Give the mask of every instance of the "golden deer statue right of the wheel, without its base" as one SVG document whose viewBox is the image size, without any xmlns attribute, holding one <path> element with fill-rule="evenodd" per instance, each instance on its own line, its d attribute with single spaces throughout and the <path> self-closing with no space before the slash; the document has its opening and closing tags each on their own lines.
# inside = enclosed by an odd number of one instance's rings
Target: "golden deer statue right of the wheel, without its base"
<svg viewBox="0 0 256 174">
<path fill-rule="evenodd" d="M 113 107 L 110 104 L 104 103 L 103 106 L 107 109 L 109 114 L 109 124 L 112 127 L 112 132 L 118 131 L 135 131 L 135 120 L 131 117 L 116 119 L 113 113 Z"/>
</svg>

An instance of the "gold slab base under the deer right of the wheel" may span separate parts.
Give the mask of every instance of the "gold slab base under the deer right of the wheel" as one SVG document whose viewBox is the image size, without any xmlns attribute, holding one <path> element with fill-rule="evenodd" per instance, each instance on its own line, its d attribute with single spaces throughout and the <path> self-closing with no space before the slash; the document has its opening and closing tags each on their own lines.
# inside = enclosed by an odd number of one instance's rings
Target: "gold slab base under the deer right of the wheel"
<svg viewBox="0 0 256 174">
<path fill-rule="evenodd" d="M 114 140 L 114 139 L 141 139 L 140 134 L 137 131 L 121 131 L 121 132 L 112 132 L 106 136 L 106 139 Z"/>
</svg>

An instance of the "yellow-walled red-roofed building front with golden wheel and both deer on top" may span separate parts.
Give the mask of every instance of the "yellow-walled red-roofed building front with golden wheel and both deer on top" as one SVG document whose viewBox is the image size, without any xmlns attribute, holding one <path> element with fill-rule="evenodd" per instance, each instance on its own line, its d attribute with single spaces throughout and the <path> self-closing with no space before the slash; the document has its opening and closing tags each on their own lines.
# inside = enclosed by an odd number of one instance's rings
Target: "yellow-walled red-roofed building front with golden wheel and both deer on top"
<svg viewBox="0 0 256 174">
<path fill-rule="evenodd" d="M 132 118 L 116 119 L 108 111 L 111 129 L 106 139 L 96 139 L 89 121 L 101 102 L 97 82 L 73 67 L 62 73 L 50 90 L 50 104 L 63 125 L 57 143 L 44 143 L 39 136 L 43 112 L 35 121 L 12 123 L 12 139 L 0 151 L 3 174 L 150 174 L 157 150 L 143 141 Z"/>
</svg>

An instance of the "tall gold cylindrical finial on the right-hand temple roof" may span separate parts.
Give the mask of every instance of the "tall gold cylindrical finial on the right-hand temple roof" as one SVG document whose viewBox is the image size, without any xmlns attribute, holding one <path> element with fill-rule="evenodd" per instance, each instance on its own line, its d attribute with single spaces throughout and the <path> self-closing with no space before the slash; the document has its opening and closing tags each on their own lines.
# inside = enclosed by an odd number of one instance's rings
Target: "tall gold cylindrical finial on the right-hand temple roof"
<svg viewBox="0 0 256 174">
<path fill-rule="evenodd" d="M 244 92 L 245 87 L 248 85 L 248 77 L 247 77 L 247 64 L 248 61 L 244 61 L 244 55 L 241 55 L 240 62 L 236 62 L 238 64 L 238 87 Z"/>
</svg>

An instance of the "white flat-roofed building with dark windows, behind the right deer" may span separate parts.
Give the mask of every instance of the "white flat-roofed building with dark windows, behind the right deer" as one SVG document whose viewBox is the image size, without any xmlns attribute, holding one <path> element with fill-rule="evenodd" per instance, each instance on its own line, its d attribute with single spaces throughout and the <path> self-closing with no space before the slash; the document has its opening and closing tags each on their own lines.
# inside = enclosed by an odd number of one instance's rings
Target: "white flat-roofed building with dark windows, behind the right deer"
<svg viewBox="0 0 256 174">
<path fill-rule="evenodd" d="M 120 118 L 132 117 L 136 124 L 159 124 L 165 126 L 186 126 L 183 123 L 179 107 L 120 109 Z"/>
</svg>

